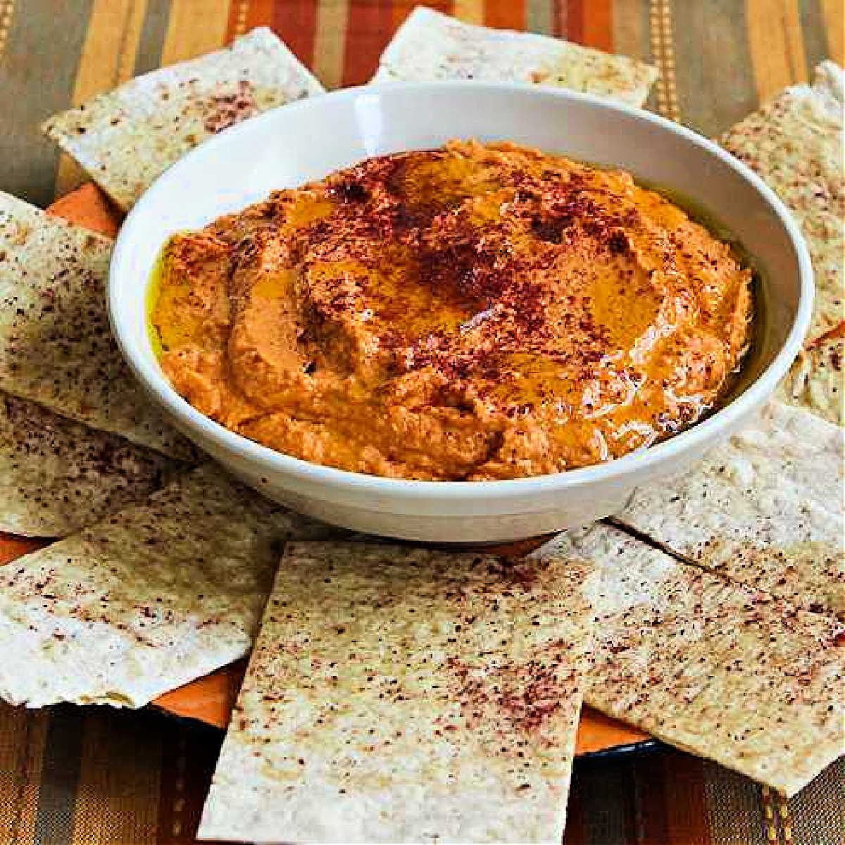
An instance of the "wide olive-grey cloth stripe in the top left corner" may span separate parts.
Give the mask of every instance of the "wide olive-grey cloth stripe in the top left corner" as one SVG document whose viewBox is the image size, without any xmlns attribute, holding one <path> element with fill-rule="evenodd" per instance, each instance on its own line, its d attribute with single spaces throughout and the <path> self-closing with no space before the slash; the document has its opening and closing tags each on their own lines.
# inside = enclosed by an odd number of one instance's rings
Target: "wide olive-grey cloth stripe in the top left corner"
<svg viewBox="0 0 845 845">
<path fill-rule="evenodd" d="M 58 161 L 56 145 L 38 126 L 71 105 L 90 8 L 90 0 L 14 4 L 0 63 L 0 102 L 6 125 L 15 131 L 0 134 L 0 189 L 38 205 L 53 199 Z M 49 73 L 35 74 L 34 60 Z"/>
</svg>

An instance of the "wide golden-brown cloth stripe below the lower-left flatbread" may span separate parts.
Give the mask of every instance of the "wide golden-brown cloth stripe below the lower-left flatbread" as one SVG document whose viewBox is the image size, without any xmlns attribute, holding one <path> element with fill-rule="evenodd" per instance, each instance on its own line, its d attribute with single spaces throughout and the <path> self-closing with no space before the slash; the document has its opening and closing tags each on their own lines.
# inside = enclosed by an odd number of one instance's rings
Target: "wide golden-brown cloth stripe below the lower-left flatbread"
<svg viewBox="0 0 845 845">
<path fill-rule="evenodd" d="M 68 845 L 155 845 L 161 734 L 146 713 L 86 711 Z"/>
</svg>

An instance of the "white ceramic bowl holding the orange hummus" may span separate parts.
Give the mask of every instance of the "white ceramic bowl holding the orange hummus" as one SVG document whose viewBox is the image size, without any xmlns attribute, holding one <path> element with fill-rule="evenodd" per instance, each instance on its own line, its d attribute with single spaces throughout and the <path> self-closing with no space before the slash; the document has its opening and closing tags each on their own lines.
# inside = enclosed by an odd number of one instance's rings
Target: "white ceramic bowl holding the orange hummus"
<svg viewBox="0 0 845 845">
<path fill-rule="evenodd" d="M 145 292 L 166 237 L 372 155 L 452 138 L 509 139 L 672 188 L 701 204 L 765 270 L 760 343 L 744 389 L 703 422 L 619 460 L 494 482 L 419 482 L 343 472 L 256 444 L 204 417 L 161 373 Z M 648 112 L 563 90 L 474 82 L 353 88 L 283 106 L 201 144 L 123 224 L 109 280 L 112 327 L 128 363 L 172 422 L 272 499 L 335 525 L 435 542 L 493 542 L 581 526 L 619 510 L 635 487 L 676 474 L 739 428 L 799 351 L 813 298 L 810 257 L 759 178 L 701 136 Z"/>
</svg>

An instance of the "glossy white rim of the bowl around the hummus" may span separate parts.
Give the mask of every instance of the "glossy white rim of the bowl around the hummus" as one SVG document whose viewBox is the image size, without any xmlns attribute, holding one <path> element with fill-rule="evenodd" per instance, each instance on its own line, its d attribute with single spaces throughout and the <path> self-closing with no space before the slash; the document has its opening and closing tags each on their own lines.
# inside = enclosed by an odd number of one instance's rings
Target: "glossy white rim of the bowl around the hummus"
<svg viewBox="0 0 845 845">
<path fill-rule="evenodd" d="M 261 123 L 271 123 L 278 120 L 280 113 L 292 113 L 301 109 L 320 107 L 330 108 L 332 101 L 355 100 L 359 96 L 378 94 L 385 90 L 391 90 L 402 95 L 425 94 L 433 90 L 443 90 L 447 93 L 450 90 L 472 90 L 473 92 L 487 90 L 522 97 L 559 100 L 562 105 L 567 101 L 581 101 L 599 110 L 621 112 L 629 117 L 651 123 L 657 128 L 678 135 L 688 144 L 715 155 L 734 172 L 737 172 L 744 181 L 750 183 L 771 207 L 771 210 L 774 210 L 797 254 L 800 276 L 799 302 L 786 341 L 766 369 L 740 395 L 717 412 L 701 420 L 700 423 L 695 423 L 691 428 L 687 428 L 661 443 L 634 450 L 612 461 L 537 476 L 493 481 L 417 481 L 406 478 L 367 475 L 362 472 L 341 470 L 334 466 L 325 466 L 324 464 L 304 461 L 293 455 L 286 455 L 284 452 L 276 451 L 269 446 L 243 437 L 242 434 L 233 432 L 221 423 L 216 423 L 210 417 L 206 417 L 183 399 L 173 389 L 164 373 L 161 373 L 160 370 L 145 360 L 141 351 L 135 348 L 132 341 L 128 340 L 131 337 L 128 332 L 128 318 L 124 316 L 120 302 L 121 297 L 117 296 L 117 286 L 121 276 L 126 272 L 124 265 L 128 261 L 128 253 L 132 248 L 134 228 L 137 221 L 148 213 L 150 207 L 155 208 L 158 194 L 161 193 L 162 189 L 166 188 L 166 185 L 172 180 L 177 179 L 183 168 L 191 166 L 194 158 L 198 155 L 209 155 L 215 148 L 228 144 L 232 139 L 251 133 Z M 461 79 L 436 82 L 388 82 L 379 85 L 357 85 L 335 90 L 262 112 L 256 117 L 243 121 L 243 123 L 237 123 L 204 140 L 202 144 L 199 144 L 194 150 L 190 150 L 183 158 L 167 168 L 144 192 L 123 221 L 112 252 L 107 286 L 107 304 L 112 333 L 117 345 L 135 376 L 146 390 L 155 397 L 155 400 L 159 401 L 167 412 L 183 422 L 189 429 L 199 429 L 202 436 L 212 440 L 215 446 L 221 450 L 229 454 L 235 453 L 241 460 L 264 466 L 268 476 L 281 473 L 286 477 L 303 482 L 344 488 L 352 493 L 380 494 L 406 502 L 433 497 L 454 501 L 455 499 L 463 499 L 467 495 L 472 495 L 473 499 L 476 500 L 493 502 L 521 497 L 526 494 L 562 492 L 565 489 L 585 487 L 600 482 L 613 482 L 631 472 L 642 472 L 663 461 L 671 461 L 675 456 L 695 449 L 696 446 L 701 447 L 706 444 L 711 436 L 719 430 L 731 428 L 733 423 L 737 423 L 739 419 L 744 417 L 750 407 L 762 404 L 787 373 L 794 357 L 801 349 L 804 335 L 806 335 L 810 326 L 814 290 L 815 283 L 810 254 L 798 223 L 793 220 L 792 215 L 781 199 L 778 199 L 777 194 L 750 167 L 744 165 L 728 150 L 722 149 L 710 139 L 706 139 L 692 129 L 674 123 L 665 117 L 621 102 L 608 101 L 596 95 L 572 90 L 542 88 L 527 83 L 481 82 Z M 144 297 L 146 291 L 147 280 L 144 280 Z M 124 329 L 126 330 L 124 331 Z"/>
</svg>

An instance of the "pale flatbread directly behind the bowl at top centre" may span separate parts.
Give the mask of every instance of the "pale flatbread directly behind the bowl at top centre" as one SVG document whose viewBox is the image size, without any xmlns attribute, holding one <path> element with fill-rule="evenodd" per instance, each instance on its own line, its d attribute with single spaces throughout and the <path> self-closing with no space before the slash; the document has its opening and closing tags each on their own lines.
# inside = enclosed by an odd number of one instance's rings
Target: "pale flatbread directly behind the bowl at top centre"
<svg viewBox="0 0 845 845">
<path fill-rule="evenodd" d="M 417 6 L 382 53 L 371 81 L 433 79 L 534 83 L 642 106 L 657 68 L 545 35 L 464 24 Z"/>
</svg>

